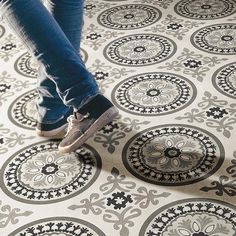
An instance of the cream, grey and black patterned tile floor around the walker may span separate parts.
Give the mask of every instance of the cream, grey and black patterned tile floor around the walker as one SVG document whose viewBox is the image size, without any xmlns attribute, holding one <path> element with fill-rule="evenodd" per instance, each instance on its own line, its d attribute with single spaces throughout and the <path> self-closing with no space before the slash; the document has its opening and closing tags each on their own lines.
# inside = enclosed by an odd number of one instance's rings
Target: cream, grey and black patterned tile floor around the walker
<svg viewBox="0 0 236 236">
<path fill-rule="evenodd" d="M 236 2 L 87 0 L 81 54 L 120 116 L 36 137 L 37 63 L 0 22 L 0 235 L 235 236 Z"/>
</svg>

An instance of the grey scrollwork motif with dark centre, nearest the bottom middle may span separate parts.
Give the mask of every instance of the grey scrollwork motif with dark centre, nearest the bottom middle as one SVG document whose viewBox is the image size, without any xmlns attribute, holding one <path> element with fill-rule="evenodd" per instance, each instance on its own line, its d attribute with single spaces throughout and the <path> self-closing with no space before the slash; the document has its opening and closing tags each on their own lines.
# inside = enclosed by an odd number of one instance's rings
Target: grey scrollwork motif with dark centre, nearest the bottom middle
<svg viewBox="0 0 236 236">
<path fill-rule="evenodd" d="M 144 186 L 138 187 L 116 168 L 111 170 L 111 175 L 99 190 L 101 193 L 92 193 L 89 198 L 82 199 L 81 204 L 71 205 L 68 208 L 79 210 L 84 215 L 89 213 L 95 216 L 102 215 L 103 220 L 113 224 L 114 230 L 119 231 L 121 236 L 132 234 L 134 221 L 141 216 L 142 211 L 158 206 L 163 198 L 168 198 L 170 195 L 168 192 L 148 190 Z"/>
</svg>

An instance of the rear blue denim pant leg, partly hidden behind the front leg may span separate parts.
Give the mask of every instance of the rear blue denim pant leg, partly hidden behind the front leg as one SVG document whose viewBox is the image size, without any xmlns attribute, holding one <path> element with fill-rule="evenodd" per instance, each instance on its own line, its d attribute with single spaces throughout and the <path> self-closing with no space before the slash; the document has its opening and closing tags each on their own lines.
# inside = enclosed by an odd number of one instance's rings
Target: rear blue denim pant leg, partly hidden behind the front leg
<svg viewBox="0 0 236 236">
<path fill-rule="evenodd" d="M 47 0 L 45 5 L 79 53 L 83 27 L 83 1 Z M 42 66 L 38 71 L 37 89 L 39 93 L 37 110 L 40 122 L 55 122 L 68 112 L 70 108 L 64 105 L 56 91 L 55 83 L 48 78 Z"/>
</svg>

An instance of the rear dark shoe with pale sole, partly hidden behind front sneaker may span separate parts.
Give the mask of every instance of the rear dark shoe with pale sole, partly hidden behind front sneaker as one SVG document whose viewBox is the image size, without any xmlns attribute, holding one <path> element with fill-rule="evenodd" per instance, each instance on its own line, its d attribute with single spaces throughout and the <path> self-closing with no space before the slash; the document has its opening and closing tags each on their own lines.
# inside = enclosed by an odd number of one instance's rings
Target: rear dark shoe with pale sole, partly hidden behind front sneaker
<svg viewBox="0 0 236 236">
<path fill-rule="evenodd" d="M 73 110 L 70 109 L 60 120 L 55 123 L 40 123 L 37 122 L 36 134 L 41 137 L 53 137 L 62 138 L 68 126 L 67 119 L 73 114 Z"/>
</svg>

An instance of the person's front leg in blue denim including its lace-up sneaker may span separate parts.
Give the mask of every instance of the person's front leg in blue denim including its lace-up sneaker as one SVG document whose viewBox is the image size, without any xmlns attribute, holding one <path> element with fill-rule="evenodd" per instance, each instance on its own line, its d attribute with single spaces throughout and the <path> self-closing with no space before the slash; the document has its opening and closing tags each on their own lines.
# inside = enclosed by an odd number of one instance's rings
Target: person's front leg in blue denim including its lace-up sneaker
<svg viewBox="0 0 236 236">
<path fill-rule="evenodd" d="M 118 110 L 99 94 L 93 76 L 40 0 L 0 0 L 0 4 L 4 6 L 9 24 L 56 84 L 63 103 L 73 107 L 75 115 L 70 117 L 68 132 L 59 150 L 75 150 L 112 121 Z"/>
</svg>

